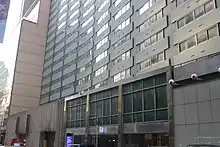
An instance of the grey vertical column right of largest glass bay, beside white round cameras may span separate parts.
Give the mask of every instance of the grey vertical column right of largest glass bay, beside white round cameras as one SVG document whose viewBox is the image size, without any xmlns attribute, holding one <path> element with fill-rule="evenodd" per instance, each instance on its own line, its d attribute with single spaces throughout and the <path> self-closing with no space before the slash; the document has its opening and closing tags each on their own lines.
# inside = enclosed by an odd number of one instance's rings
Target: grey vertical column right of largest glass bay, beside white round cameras
<svg viewBox="0 0 220 147">
<path fill-rule="evenodd" d="M 169 60 L 169 68 L 167 71 L 167 81 L 173 79 L 173 67 Z M 169 121 L 169 147 L 174 147 L 174 118 L 173 118 L 173 86 L 167 85 L 167 101 L 168 101 L 168 121 Z"/>
</svg>

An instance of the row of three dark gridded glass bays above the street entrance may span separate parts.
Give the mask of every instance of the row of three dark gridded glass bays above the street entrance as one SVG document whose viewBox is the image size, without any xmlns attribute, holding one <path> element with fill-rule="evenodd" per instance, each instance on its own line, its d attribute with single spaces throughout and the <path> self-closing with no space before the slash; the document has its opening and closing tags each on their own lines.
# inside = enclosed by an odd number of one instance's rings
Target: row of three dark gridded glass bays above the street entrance
<svg viewBox="0 0 220 147">
<path fill-rule="evenodd" d="M 89 95 L 89 126 L 118 124 L 118 87 Z M 166 74 L 122 86 L 123 123 L 167 122 Z M 86 97 L 67 102 L 67 128 L 85 127 Z"/>
</svg>

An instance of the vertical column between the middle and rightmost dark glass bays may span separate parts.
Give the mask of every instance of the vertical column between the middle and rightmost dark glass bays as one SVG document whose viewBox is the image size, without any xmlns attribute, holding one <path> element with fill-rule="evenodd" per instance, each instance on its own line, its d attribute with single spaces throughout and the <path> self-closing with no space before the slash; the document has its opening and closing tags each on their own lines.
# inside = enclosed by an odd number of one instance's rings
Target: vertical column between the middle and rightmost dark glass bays
<svg viewBox="0 0 220 147">
<path fill-rule="evenodd" d="M 118 147 L 123 147 L 123 98 L 122 84 L 118 86 Z"/>
</svg>

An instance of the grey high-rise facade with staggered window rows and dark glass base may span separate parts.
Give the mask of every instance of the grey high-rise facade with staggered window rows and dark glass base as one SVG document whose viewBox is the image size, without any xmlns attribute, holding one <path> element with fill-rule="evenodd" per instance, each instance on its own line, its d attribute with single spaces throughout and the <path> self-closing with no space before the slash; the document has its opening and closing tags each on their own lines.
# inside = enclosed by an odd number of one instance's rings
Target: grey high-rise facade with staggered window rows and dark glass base
<svg viewBox="0 0 220 147">
<path fill-rule="evenodd" d="M 219 0 L 52 0 L 40 104 L 66 98 L 60 129 L 74 143 L 97 133 L 100 146 L 210 142 L 219 14 Z"/>
</svg>

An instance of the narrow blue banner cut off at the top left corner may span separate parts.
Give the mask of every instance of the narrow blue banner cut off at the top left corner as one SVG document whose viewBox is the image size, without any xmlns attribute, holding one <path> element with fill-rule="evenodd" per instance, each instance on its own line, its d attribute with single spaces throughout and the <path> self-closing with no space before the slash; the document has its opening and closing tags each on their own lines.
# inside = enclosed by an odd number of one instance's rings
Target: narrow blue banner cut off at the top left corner
<svg viewBox="0 0 220 147">
<path fill-rule="evenodd" d="M 0 42 L 3 42 L 10 0 L 0 0 Z"/>
</svg>

